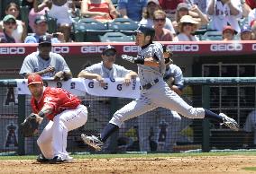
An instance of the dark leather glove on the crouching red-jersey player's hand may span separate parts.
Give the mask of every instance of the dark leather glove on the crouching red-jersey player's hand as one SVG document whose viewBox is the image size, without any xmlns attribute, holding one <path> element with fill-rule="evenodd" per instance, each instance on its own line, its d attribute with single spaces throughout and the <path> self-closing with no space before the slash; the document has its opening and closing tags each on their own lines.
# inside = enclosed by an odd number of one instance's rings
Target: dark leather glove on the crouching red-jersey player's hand
<svg viewBox="0 0 256 174">
<path fill-rule="evenodd" d="M 35 130 L 39 128 L 40 120 L 37 119 L 37 117 L 39 117 L 37 114 L 32 113 L 21 124 L 20 130 L 24 137 L 33 136 L 35 133 Z"/>
</svg>

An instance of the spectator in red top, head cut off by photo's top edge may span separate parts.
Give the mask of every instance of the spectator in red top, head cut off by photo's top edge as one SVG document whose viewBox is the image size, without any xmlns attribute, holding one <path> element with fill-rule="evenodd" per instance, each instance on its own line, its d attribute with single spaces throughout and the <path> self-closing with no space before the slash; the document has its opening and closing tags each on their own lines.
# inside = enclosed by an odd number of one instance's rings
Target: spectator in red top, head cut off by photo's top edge
<svg viewBox="0 0 256 174">
<path fill-rule="evenodd" d="M 99 22 L 111 22 L 120 16 L 111 0 L 82 0 L 81 14 Z"/>
</svg>

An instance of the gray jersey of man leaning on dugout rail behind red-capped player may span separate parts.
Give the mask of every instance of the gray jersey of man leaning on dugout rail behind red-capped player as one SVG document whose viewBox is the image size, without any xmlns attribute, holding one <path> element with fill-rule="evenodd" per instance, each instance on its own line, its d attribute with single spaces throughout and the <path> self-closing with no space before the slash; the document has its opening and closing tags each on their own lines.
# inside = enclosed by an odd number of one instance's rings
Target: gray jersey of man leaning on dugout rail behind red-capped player
<svg viewBox="0 0 256 174">
<path fill-rule="evenodd" d="M 52 77 L 59 71 L 69 72 L 69 66 L 65 59 L 57 53 L 50 52 L 49 60 L 44 60 L 39 56 L 39 52 L 33 52 L 32 54 L 25 57 L 23 65 L 20 71 L 21 75 L 27 73 L 35 73 L 46 69 L 49 66 L 55 67 L 55 72 L 42 74 L 42 76 Z"/>
</svg>

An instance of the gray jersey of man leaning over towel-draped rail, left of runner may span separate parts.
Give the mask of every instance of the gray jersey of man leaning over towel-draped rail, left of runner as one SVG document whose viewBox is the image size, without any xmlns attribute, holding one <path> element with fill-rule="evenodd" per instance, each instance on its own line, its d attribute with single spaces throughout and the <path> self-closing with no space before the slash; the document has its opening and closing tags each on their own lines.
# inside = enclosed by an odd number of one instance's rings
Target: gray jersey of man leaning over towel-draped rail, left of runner
<svg viewBox="0 0 256 174">
<path fill-rule="evenodd" d="M 126 74 L 129 74 L 131 72 L 131 70 L 125 69 L 122 65 L 116 64 L 113 65 L 113 68 L 111 70 L 107 69 L 103 65 L 103 62 L 91 65 L 83 71 L 93 74 L 100 74 L 103 78 L 123 78 Z"/>
</svg>

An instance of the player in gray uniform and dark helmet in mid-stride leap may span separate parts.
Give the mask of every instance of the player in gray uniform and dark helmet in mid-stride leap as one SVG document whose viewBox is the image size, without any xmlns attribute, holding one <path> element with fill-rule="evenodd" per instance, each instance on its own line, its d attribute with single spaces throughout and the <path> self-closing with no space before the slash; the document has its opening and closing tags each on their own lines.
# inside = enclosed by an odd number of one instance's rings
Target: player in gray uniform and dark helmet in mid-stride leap
<svg viewBox="0 0 256 174">
<path fill-rule="evenodd" d="M 137 57 L 123 55 L 123 59 L 138 65 L 138 75 L 142 84 L 141 97 L 125 105 L 114 113 L 114 117 L 105 126 L 100 137 L 95 135 L 81 135 L 83 141 L 100 150 L 106 139 L 112 135 L 125 120 L 140 116 L 158 107 L 176 110 L 179 114 L 189 118 L 211 118 L 238 131 L 239 126 L 231 117 L 224 113 L 219 115 L 203 109 L 193 108 L 182 100 L 175 91 L 170 90 L 169 85 L 164 82 L 165 59 L 163 50 L 159 43 L 152 43 L 155 30 L 140 25 L 135 30 L 135 43 L 142 49 Z"/>
</svg>

